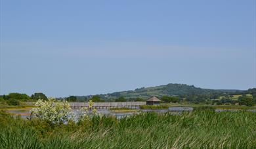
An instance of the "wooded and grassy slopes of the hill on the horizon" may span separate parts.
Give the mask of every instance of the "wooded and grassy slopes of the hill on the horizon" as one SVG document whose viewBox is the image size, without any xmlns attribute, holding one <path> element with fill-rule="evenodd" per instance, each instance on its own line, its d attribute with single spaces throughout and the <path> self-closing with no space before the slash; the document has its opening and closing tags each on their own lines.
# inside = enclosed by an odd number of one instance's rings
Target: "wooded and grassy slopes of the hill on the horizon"
<svg viewBox="0 0 256 149">
<path fill-rule="evenodd" d="M 243 91 L 239 90 L 215 90 L 215 89 L 201 89 L 199 87 L 194 87 L 194 85 L 185 84 L 167 84 L 160 85 L 156 87 L 141 87 L 135 89 L 134 91 L 121 91 L 105 95 L 98 95 L 104 100 L 112 100 L 113 98 L 119 98 L 123 96 L 126 99 L 136 99 L 136 98 L 149 98 L 150 96 L 179 96 L 181 98 L 188 98 L 193 102 L 198 102 L 196 100 L 200 99 L 216 99 L 219 96 L 232 94 L 241 94 Z M 87 98 L 87 96 L 83 96 Z"/>
</svg>

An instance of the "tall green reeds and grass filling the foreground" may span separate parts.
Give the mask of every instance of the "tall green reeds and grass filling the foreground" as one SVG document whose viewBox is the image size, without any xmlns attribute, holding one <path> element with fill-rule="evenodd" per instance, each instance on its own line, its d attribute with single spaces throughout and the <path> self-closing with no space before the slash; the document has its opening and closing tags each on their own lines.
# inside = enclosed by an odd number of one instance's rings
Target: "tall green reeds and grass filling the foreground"
<svg viewBox="0 0 256 149">
<path fill-rule="evenodd" d="M 255 148 L 256 114 L 142 113 L 51 125 L 0 113 L 0 148 Z"/>
</svg>

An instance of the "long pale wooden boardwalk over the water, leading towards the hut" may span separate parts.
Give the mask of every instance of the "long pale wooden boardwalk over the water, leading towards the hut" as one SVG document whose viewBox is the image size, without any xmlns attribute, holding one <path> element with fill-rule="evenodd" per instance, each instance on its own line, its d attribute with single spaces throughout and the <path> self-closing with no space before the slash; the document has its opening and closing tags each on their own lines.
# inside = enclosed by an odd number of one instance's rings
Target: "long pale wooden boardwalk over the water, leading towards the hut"
<svg viewBox="0 0 256 149">
<path fill-rule="evenodd" d="M 146 102 L 95 102 L 93 108 L 139 108 L 141 105 L 145 105 Z M 71 108 L 83 108 L 89 107 L 88 102 L 70 102 Z"/>
</svg>

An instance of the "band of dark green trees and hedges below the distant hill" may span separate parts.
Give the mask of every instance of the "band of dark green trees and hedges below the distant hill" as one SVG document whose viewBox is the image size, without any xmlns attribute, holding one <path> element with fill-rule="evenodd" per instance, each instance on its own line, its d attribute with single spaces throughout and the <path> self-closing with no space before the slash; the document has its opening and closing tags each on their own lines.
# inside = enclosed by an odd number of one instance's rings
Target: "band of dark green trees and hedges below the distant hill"
<svg viewBox="0 0 256 149">
<path fill-rule="evenodd" d="M 238 100 L 232 99 L 233 96 L 238 95 L 236 93 L 209 93 L 205 95 L 198 94 L 190 94 L 190 95 L 179 95 L 179 96 L 159 96 L 159 98 L 164 103 L 205 103 L 205 104 L 215 104 L 215 105 L 245 105 L 245 106 L 253 106 L 256 104 L 256 88 L 248 89 L 240 93 L 242 96 L 238 97 Z M 251 95 L 251 96 L 247 96 Z M 37 101 L 37 100 L 47 100 L 47 96 L 43 93 L 34 93 L 31 96 L 22 93 L 10 93 L 9 95 L 1 95 L 0 100 L 5 100 L 9 105 L 19 105 L 20 101 Z M 68 96 L 65 98 L 57 98 L 58 100 L 67 100 L 68 102 L 80 102 L 80 101 L 89 101 L 93 102 L 105 102 L 104 98 L 100 95 L 90 96 L 89 98 L 79 99 L 77 96 Z M 110 100 L 112 102 L 127 102 L 127 101 L 146 101 L 146 98 L 125 98 L 123 96 L 119 96 L 118 98 L 114 98 Z"/>
</svg>

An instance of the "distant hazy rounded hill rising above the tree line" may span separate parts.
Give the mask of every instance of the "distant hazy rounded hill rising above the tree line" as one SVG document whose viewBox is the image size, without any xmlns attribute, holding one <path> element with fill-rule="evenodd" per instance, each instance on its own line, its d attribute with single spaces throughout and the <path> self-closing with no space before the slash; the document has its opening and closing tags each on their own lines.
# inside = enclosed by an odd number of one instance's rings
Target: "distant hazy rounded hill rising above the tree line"
<svg viewBox="0 0 256 149">
<path fill-rule="evenodd" d="M 205 95 L 212 93 L 240 93 L 241 90 L 221 90 L 221 89 L 202 89 L 200 87 L 194 87 L 194 85 L 186 84 L 173 84 L 169 83 L 167 85 L 160 85 L 156 87 L 142 87 L 135 89 L 133 91 L 120 91 L 109 94 L 99 95 L 105 100 L 110 100 L 113 98 L 119 98 L 123 96 L 125 98 L 148 98 L 150 96 L 180 96 L 180 95 Z M 90 96 L 77 96 L 77 98 L 85 99 L 91 98 Z"/>
</svg>

